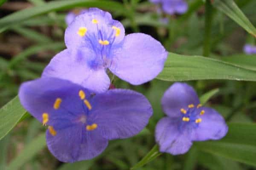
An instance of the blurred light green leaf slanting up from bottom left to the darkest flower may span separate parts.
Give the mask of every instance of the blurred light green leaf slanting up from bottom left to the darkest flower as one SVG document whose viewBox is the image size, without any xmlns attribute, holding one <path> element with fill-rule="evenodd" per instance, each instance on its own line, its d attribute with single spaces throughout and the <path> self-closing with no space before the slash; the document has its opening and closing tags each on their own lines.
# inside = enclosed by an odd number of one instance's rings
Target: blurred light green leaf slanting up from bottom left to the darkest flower
<svg viewBox="0 0 256 170">
<path fill-rule="evenodd" d="M 19 153 L 19 155 L 13 159 L 6 170 L 17 170 L 27 161 L 32 159 L 40 150 L 46 147 L 45 133 L 40 134 L 32 142 L 27 144 L 25 148 Z"/>
</svg>

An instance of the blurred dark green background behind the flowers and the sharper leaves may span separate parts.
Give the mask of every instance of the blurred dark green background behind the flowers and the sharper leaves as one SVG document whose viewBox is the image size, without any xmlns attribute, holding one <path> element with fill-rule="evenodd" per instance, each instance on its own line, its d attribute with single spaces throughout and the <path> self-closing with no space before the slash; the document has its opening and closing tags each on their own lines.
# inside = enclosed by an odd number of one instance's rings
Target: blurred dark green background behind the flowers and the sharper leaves
<svg viewBox="0 0 256 170">
<path fill-rule="evenodd" d="M 77 0 L 76 0 L 77 1 Z M 108 4 L 108 1 L 111 2 Z M 4 0 L 0 0 L 4 2 Z M 184 55 L 208 56 L 206 45 L 206 10 L 202 0 L 188 0 L 189 11 L 183 15 L 168 16 L 157 14 L 156 5 L 147 0 L 105 0 L 96 3 L 75 3 L 72 0 L 55 1 L 71 5 L 56 7 L 50 12 L 29 15 L 21 13 L 7 25 L 0 27 L 0 106 L 2 107 L 17 95 L 20 83 L 41 76 L 50 59 L 65 48 L 64 19 L 68 11 L 76 8 L 101 7 L 111 12 L 122 22 L 126 34 L 143 32 L 150 34 L 165 46 L 167 51 Z M 93 2 L 93 1 L 92 1 Z M 107 2 L 107 3 L 105 3 Z M 256 0 L 236 0 L 236 4 L 256 26 Z M 0 18 L 25 8 L 44 6 L 46 0 L 9 0 L 0 6 Z M 1 4 L 1 3 L 0 3 Z M 107 5 L 106 5 L 107 4 Z M 118 4 L 118 5 L 116 5 Z M 122 6 L 120 9 L 119 6 Z M 44 8 L 38 8 L 44 9 Z M 124 11 L 122 11 L 124 10 Z M 209 31 L 209 57 L 216 58 L 245 68 L 256 70 L 256 55 L 243 53 L 245 43 L 255 43 L 236 22 L 216 8 L 211 9 Z M 123 13 L 127 13 L 124 15 Z M 20 18 L 19 18 L 20 17 Z M 22 17 L 26 17 L 22 19 Z M 161 22 L 169 17 L 169 23 Z M 1 20 L 1 19 L 0 19 Z M 243 60 L 245 59 L 245 60 Z M 201 63 L 204 65 L 204 63 Z M 186 65 L 185 65 L 186 67 Z M 202 70 L 204 71 L 204 70 Z M 112 75 L 111 75 L 112 76 Z M 164 116 L 160 99 L 173 82 L 154 79 L 140 86 L 132 86 L 117 77 L 113 79 L 116 88 L 129 88 L 143 93 L 151 102 L 154 115 L 147 129 L 129 139 L 111 141 L 108 148 L 97 158 L 74 164 L 64 164 L 55 159 L 47 150 L 44 131 L 40 122 L 26 114 L 15 128 L 0 140 L 0 170 L 127 170 L 139 162 L 154 146 L 154 127 Z M 207 105 L 218 110 L 227 120 L 244 130 L 250 142 L 243 142 L 240 133 L 234 133 L 240 145 L 214 145 L 210 142 L 195 143 L 185 155 L 162 154 L 150 161 L 141 170 L 253 170 L 256 169 L 256 82 L 234 80 L 189 81 L 198 95 L 212 89 L 218 92 L 209 99 Z M 0 117 L 3 119 L 3 117 Z M 232 124 L 233 123 L 233 124 Z M 250 124 L 249 124 L 250 123 Z M 241 124 L 239 129 L 238 125 Z M 250 129 L 243 125 L 254 125 Z M 244 129 L 243 129 L 244 127 Z M 235 129 L 236 132 L 236 129 Z M 242 131 L 243 132 L 243 131 Z M 236 136 L 237 134 L 237 136 Z M 248 134 L 248 135 L 247 135 Z M 240 135 L 240 136 L 239 136 Z M 254 138 L 253 138 L 254 137 Z M 249 141 L 249 140 L 248 140 Z M 228 142 L 224 142 L 228 144 Z M 208 147 L 206 145 L 208 144 Z M 236 150 L 242 147 L 241 150 Z M 203 149 L 202 149 L 203 148 Z M 227 148 L 227 152 L 225 149 Z M 229 148 L 231 148 L 229 150 Z M 233 149 L 233 150 L 232 150 Z M 217 151 L 216 151 L 217 150 Z M 219 150 L 219 151 L 218 151 Z M 216 151 L 216 152 L 215 152 Z M 250 152 L 249 152 L 250 151 Z M 239 157 L 240 156 L 240 157 Z M 249 160 L 249 161 L 248 161 Z M 248 163 L 249 162 L 249 163 Z"/>
</svg>

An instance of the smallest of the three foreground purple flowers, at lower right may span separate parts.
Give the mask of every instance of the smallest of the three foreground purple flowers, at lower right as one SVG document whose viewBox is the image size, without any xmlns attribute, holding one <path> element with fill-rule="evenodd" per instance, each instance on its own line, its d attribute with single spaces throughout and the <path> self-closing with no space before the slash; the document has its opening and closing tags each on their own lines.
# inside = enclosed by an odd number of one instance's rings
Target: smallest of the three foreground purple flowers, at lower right
<svg viewBox="0 0 256 170">
<path fill-rule="evenodd" d="M 228 127 L 214 109 L 203 107 L 194 89 L 186 83 L 174 83 L 163 95 L 162 118 L 155 131 L 160 152 L 173 155 L 186 153 L 193 141 L 217 140 Z"/>
</svg>

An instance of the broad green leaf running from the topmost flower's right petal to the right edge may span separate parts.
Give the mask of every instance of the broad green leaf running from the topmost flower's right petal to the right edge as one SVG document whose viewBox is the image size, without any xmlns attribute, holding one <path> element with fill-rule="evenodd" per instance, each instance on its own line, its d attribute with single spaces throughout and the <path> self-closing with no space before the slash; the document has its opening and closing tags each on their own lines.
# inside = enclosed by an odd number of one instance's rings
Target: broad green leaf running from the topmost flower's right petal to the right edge
<svg viewBox="0 0 256 170">
<path fill-rule="evenodd" d="M 256 71 L 217 59 L 169 53 L 157 79 L 173 82 L 199 79 L 256 81 Z"/>
</svg>

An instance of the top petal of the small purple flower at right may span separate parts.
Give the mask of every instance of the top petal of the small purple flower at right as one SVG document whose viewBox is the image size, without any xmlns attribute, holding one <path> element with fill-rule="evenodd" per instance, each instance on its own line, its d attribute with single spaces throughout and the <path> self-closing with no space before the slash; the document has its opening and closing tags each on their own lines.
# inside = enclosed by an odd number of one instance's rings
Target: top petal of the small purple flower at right
<svg viewBox="0 0 256 170">
<path fill-rule="evenodd" d="M 163 95 L 161 100 L 164 113 L 170 117 L 179 117 L 180 109 L 187 109 L 188 105 L 199 104 L 195 90 L 186 83 L 175 82 Z"/>
</svg>

